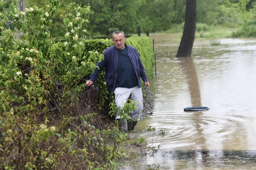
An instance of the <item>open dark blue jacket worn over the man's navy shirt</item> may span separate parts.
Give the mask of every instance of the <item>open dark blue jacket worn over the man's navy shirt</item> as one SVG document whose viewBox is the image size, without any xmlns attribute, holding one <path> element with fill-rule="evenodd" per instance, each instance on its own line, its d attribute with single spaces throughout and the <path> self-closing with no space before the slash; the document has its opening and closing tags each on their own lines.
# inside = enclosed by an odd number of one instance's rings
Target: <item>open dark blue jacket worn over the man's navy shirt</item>
<svg viewBox="0 0 256 170">
<path fill-rule="evenodd" d="M 127 46 L 127 45 L 126 45 Z M 95 82 L 97 76 L 99 75 L 100 71 L 105 67 L 105 78 L 107 82 L 107 90 L 110 92 L 114 92 L 115 90 L 115 83 L 117 77 L 117 65 L 118 65 L 118 50 L 116 46 L 111 46 L 104 51 L 104 59 L 101 62 L 97 63 L 99 69 L 96 67 L 94 69 L 94 73 L 90 76 L 90 80 Z M 127 54 L 131 60 L 133 65 L 134 71 L 136 73 L 138 79 L 138 86 L 142 87 L 140 82 L 140 77 L 144 82 L 148 82 L 147 75 L 140 60 L 140 55 L 136 48 L 133 46 L 127 46 Z"/>
</svg>

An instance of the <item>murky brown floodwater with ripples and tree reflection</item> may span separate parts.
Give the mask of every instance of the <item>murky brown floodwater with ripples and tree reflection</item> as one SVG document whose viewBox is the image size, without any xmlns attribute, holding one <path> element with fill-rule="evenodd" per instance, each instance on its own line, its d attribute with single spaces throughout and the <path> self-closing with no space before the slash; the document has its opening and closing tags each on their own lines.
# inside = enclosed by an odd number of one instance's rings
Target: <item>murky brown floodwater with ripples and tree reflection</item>
<svg viewBox="0 0 256 170">
<path fill-rule="evenodd" d="M 191 58 L 175 58 L 172 36 L 154 35 L 155 107 L 137 125 L 156 128 L 139 136 L 157 151 L 129 169 L 256 169 L 256 39 L 195 39 Z M 183 111 L 195 106 L 210 109 Z"/>
</svg>

